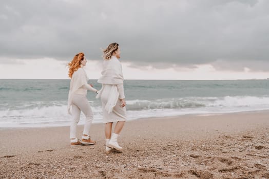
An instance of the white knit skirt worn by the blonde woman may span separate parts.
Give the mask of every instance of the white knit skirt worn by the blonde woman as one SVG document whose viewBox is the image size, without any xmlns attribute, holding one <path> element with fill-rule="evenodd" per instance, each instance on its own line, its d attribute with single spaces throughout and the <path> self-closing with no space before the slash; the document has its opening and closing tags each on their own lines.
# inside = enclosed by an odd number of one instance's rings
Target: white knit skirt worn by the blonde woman
<svg viewBox="0 0 269 179">
<path fill-rule="evenodd" d="M 120 99 L 118 99 L 116 106 L 113 107 L 111 113 L 107 113 L 105 110 L 105 105 L 107 103 L 108 97 L 110 95 L 112 85 L 103 84 L 102 94 L 101 94 L 101 102 L 103 109 L 103 123 L 108 122 L 117 122 L 117 121 L 125 121 L 126 120 L 126 107 L 121 107 Z"/>
</svg>

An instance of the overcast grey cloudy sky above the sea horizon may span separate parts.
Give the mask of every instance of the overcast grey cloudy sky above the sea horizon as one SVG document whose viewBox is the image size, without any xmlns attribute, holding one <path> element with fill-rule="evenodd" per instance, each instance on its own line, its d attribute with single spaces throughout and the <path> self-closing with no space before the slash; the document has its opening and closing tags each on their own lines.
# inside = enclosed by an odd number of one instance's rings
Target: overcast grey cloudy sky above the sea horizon
<svg viewBox="0 0 269 179">
<path fill-rule="evenodd" d="M 267 0 L 0 2 L 0 79 L 68 79 L 78 52 L 90 79 L 101 48 L 121 47 L 125 79 L 269 78 Z"/>
</svg>

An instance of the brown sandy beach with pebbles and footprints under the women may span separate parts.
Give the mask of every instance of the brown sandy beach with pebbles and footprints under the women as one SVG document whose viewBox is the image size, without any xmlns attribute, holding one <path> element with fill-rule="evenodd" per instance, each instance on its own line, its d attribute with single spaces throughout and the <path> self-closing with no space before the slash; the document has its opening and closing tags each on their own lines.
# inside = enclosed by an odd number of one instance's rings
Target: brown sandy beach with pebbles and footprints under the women
<svg viewBox="0 0 269 179">
<path fill-rule="evenodd" d="M 269 178 L 269 111 L 127 121 L 122 153 L 103 127 L 77 147 L 69 127 L 1 128 L 0 178 Z"/>
</svg>

